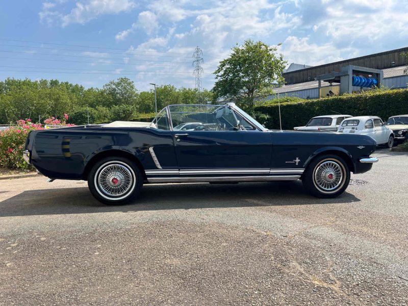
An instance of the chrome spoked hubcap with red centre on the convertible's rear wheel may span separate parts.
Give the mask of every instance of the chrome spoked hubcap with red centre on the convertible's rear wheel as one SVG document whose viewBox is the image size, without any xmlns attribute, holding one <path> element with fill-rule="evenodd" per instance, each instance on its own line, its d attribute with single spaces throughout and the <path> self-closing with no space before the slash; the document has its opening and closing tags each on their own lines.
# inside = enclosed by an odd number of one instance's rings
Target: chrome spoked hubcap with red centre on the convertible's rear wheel
<svg viewBox="0 0 408 306">
<path fill-rule="evenodd" d="M 109 196 L 121 196 L 132 187 L 133 179 L 129 168 L 110 164 L 100 170 L 98 183 L 101 191 Z"/>
</svg>

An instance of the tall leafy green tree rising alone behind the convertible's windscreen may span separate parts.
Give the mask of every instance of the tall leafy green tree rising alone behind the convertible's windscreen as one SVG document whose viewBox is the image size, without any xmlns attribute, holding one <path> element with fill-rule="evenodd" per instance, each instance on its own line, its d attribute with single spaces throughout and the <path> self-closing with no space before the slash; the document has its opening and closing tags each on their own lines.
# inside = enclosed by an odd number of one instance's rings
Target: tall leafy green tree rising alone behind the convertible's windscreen
<svg viewBox="0 0 408 306">
<path fill-rule="evenodd" d="M 277 46 L 248 39 L 234 47 L 215 70 L 214 99 L 234 100 L 252 112 L 256 98 L 270 94 L 274 83 L 284 82 L 285 65 Z"/>
</svg>

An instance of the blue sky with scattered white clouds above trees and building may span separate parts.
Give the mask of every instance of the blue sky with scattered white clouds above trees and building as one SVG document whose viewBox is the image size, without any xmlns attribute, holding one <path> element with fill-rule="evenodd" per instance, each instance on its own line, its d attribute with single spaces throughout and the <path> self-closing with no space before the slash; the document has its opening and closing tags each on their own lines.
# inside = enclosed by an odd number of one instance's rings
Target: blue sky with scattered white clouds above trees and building
<svg viewBox="0 0 408 306">
<path fill-rule="evenodd" d="M 408 0 L 0 0 L 0 80 L 58 79 L 86 88 L 127 77 L 203 88 L 245 39 L 288 64 L 319 65 L 408 46 Z"/>
</svg>

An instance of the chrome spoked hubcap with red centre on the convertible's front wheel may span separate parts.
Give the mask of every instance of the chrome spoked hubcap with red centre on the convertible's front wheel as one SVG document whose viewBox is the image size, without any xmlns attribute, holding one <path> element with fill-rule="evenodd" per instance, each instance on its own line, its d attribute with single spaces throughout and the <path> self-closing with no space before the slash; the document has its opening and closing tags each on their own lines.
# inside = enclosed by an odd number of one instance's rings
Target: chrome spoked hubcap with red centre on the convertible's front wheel
<svg viewBox="0 0 408 306">
<path fill-rule="evenodd" d="M 315 171 L 315 182 L 324 191 L 332 191 L 338 188 L 343 180 L 343 172 L 340 165 L 334 161 L 320 164 Z"/>
</svg>

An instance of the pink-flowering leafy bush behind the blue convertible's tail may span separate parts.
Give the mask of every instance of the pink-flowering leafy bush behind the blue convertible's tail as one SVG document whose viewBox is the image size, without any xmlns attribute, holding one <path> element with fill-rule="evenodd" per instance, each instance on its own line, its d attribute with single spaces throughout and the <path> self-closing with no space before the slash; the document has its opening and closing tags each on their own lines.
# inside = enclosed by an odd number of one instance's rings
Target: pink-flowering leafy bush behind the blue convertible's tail
<svg viewBox="0 0 408 306">
<path fill-rule="evenodd" d="M 25 139 L 30 131 L 43 130 L 41 123 L 32 123 L 30 119 L 18 120 L 16 126 L 0 132 L 0 166 L 31 169 L 23 157 Z"/>
</svg>

